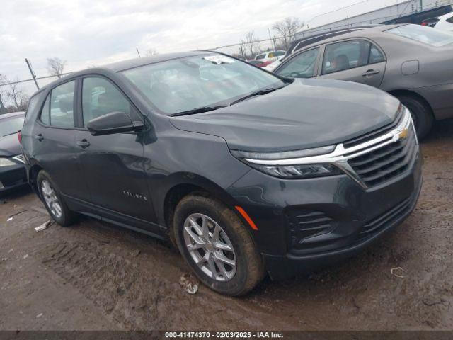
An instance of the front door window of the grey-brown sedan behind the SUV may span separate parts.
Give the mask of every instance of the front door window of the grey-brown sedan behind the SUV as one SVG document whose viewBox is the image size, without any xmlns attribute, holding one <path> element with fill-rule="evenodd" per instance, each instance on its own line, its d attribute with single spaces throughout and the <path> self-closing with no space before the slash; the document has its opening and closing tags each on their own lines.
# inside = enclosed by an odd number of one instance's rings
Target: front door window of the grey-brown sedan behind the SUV
<svg viewBox="0 0 453 340">
<path fill-rule="evenodd" d="M 276 73 L 280 74 L 280 76 L 292 78 L 313 77 L 318 54 L 319 47 L 302 52 L 284 64 Z"/>
</svg>

